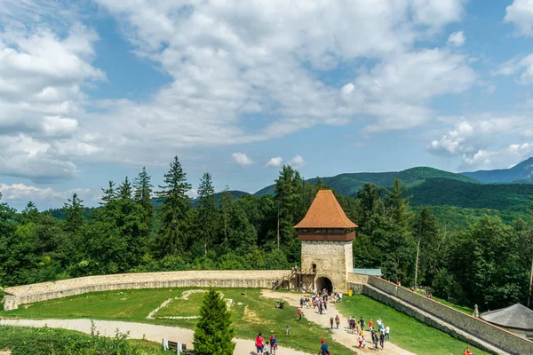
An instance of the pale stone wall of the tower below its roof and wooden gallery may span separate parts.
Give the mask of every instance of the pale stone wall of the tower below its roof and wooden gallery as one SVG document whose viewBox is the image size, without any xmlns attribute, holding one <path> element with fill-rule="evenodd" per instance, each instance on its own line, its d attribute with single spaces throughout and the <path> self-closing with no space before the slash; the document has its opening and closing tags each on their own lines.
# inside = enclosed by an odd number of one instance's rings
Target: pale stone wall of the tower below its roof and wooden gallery
<svg viewBox="0 0 533 355">
<path fill-rule="evenodd" d="M 351 256 L 350 261 L 346 260 L 348 247 L 351 254 L 351 241 L 302 241 L 302 270 L 310 272 L 313 264 L 316 264 L 315 280 L 327 277 L 333 283 L 333 288 L 346 292 L 346 264 L 352 264 Z"/>
</svg>

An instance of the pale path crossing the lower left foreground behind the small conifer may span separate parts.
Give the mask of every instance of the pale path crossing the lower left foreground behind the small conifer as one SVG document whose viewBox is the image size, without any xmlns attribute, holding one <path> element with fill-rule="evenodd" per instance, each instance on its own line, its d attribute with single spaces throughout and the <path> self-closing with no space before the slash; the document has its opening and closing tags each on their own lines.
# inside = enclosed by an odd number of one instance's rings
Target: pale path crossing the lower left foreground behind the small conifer
<svg viewBox="0 0 533 355">
<path fill-rule="evenodd" d="M 63 329 L 77 330 L 91 333 L 91 319 L 2 319 L 2 325 L 23 327 L 60 327 Z M 121 333 L 130 332 L 130 338 L 142 339 L 162 343 L 163 338 L 180 341 L 192 346 L 194 332 L 181 327 L 156 326 L 145 323 L 129 323 L 122 321 L 94 320 L 96 330 L 100 335 L 114 336 L 118 328 Z M 234 339 L 236 346 L 234 355 L 256 355 L 253 340 Z M 280 347 L 276 355 L 309 355 L 302 351 Z"/>
</svg>

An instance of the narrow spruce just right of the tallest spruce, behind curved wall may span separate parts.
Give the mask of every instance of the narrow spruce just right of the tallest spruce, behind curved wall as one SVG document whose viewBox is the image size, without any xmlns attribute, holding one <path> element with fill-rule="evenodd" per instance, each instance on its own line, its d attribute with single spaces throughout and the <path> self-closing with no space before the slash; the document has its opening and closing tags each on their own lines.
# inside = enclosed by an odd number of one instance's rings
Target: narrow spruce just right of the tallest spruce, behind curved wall
<svg viewBox="0 0 533 355">
<path fill-rule="evenodd" d="M 198 186 L 198 230 L 202 233 L 203 254 L 215 242 L 219 226 L 219 209 L 215 200 L 215 188 L 211 174 L 206 172 Z"/>
</svg>

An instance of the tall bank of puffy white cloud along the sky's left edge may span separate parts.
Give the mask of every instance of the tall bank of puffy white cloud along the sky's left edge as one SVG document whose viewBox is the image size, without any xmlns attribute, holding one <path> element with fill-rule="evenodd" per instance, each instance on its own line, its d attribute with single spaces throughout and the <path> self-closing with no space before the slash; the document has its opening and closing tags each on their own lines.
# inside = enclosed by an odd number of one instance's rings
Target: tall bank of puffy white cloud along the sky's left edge
<svg viewBox="0 0 533 355">
<path fill-rule="evenodd" d="M 30 1 L 10 6 L 4 9 L 7 19 L 28 15 L 20 7 L 40 8 Z M 74 177 L 76 155 L 101 151 L 88 146 L 79 120 L 86 99 L 82 87 L 105 80 L 91 65 L 98 36 L 69 21 L 55 32 L 50 16 L 36 11 L 28 27 L 8 20 L 0 29 L 0 171 L 40 182 Z"/>
</svg>

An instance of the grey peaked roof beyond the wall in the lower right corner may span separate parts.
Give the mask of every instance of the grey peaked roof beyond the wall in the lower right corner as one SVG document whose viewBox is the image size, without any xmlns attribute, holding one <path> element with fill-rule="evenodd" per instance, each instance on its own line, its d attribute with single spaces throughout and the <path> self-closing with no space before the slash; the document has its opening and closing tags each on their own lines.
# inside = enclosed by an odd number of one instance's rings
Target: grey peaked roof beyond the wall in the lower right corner
<svg viewBox="0 0 533 355">
<path fill-rule="evenodd" d="M 481 313 L 481 319 L 515 335 L 533 339 L 533 311 L 521 304 Z"/>
</svg>

